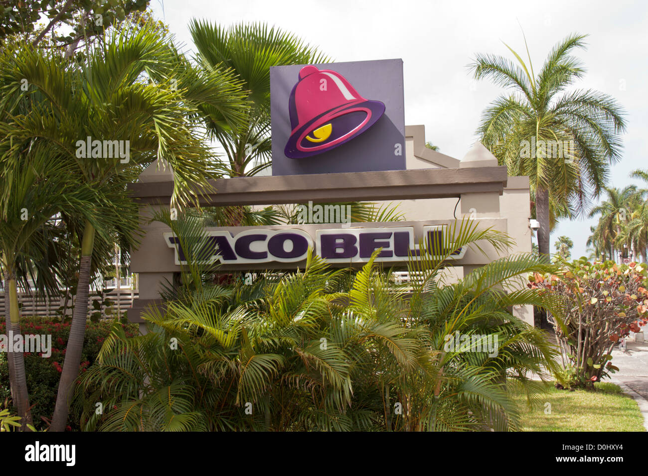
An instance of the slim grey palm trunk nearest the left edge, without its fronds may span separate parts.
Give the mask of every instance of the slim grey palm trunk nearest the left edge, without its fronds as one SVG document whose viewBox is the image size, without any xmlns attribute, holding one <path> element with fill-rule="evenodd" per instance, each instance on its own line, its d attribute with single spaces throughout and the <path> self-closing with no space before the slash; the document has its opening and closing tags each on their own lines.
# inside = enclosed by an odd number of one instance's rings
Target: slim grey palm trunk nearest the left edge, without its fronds
<svg viewBox="0 0 648 476">
<path fill-rule="evenodd" d="M 22 418 L 21 429 L 27 430 L 27 424 L 32 424 L 32 413 L 29 408 L 29 394 L 27 393 L 27 374 L 25 374 L 25 354 L 23 352 L 14 352 L 12 348 L 16 335 L 19 339 L 23 339 L 20 333 L 20 310 L 18 309 L 18 286 L 16 282 L 16 275 L 9 271 L 9 315 L 10 315 L 10 328 L 7 330 L 9 335 L 13 335 L 9 339 L 9 359 L 13 361 L 14 376 L 16 378 L 16 389 L 12 391 L 14 394 L 14 405 L 18 411 L 18 416 Z M 23 340 L 24 343 L 24 340 Z M 25 350 L 23 348 L 23 350 Z"/>
</svg>

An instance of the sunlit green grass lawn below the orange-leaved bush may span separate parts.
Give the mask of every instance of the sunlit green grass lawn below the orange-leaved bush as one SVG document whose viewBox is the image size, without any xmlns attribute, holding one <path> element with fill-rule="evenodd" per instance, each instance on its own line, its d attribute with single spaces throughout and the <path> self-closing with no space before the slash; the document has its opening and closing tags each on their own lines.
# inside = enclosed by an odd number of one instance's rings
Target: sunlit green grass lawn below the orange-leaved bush
<svg viewBox="0 0 648 476">
<path fill-rule="evenodd" d="M 542 405 L 529 409 L 526 398 L 515 398 L 522 431 L 645 431 L 637 403 L 614 383 L 594 384 L 596 391 L 573 392 L 550 387 Z M 551 414 L 545 414 L 546 402 Z"/>
</svg>

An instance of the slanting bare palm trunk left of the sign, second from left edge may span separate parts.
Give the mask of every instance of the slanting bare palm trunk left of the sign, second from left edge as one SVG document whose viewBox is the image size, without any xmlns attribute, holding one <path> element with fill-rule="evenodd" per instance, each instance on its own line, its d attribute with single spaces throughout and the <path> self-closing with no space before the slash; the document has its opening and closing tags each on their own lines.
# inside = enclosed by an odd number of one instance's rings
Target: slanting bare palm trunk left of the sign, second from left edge
<svg viewBox="0 0 648 476">
<path fill-rule="evenodd" d="M 56 406 L 52 416 L 50 431 L 64 431 L 67 416 L 70 411 L 70 400 L 75 390 L 76 379 L 81 365 L 83 341 L 86 336 L 87 301 L 90 284 L 90 267 L 92 251 L 95 244 L 95 228 L 86 220 L 83 240 L 81 245 L 81 262 L 79 266 L 79 280 L 76 285 L 75 311 L 72 314 L 70 337 L 67 340 L 65 361 L 61 380 L 58 383 Z"/>
</svg>

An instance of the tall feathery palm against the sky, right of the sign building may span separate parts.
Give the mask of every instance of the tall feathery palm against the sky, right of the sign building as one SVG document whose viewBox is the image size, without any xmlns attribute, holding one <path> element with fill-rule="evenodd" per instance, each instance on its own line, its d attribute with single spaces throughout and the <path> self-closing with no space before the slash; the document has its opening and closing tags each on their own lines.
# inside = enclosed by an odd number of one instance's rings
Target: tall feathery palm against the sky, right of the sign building
<svg viewBox="0 0 648 476">
<path fill-rule="evenodd" d="M 625 120 L 616 100 L 597 91 L 566 91 L 585 72 L 571 54 L 584 48 L 585 37 L 571 34 L 557 43 L 537 76 L 530 57 L 527 65 L 508 46 L 519 65 L 489 54 L 478 54 L 470 65 L 475 79 L 512 90 L 485 109 L 478 134 L 509 174 L 529 176 L 544 255 L 550 253 L 551 211 L 582 212 L 588 196 L 605 187 L 610 164 L 621 158 Z"/>
</svg>

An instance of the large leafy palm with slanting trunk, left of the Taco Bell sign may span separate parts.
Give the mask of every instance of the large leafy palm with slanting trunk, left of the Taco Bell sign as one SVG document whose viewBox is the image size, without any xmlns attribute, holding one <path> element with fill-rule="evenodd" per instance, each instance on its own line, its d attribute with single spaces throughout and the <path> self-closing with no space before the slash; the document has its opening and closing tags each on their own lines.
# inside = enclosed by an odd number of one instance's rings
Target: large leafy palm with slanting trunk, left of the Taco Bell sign
<svg viewBox="0 0 648 476">
<path fill-rule="evenodd" d="M 53 431 L 65 427 L 69 396 L 79 372 L 98 226 L 118 223 L 101 229 L 100 234 L 116 236 L 121 231 L 122 236 L 128 236 L 129 245 L 137 244 L 137 207 L 125 196 L 126 184 L 156 159 L 172 167 L 174 203 L 190 201 L 204 192 L 205 179 L 211 173 L 211 153 L 192 122 L 197 115 L 196 104 L 213 108 L 224 123 L 231 124 L 240 120 L 247 108 L 231 74 L 196 73 L 178 56 L 172 38 L 153 24 L 113 32 L 89 52 L 83 67 L 62 68 L 62 63 L 57 52 L 25 48 L 5 73 L 7 78 L 13 78 L 7 81 L 13 87 L 12 98 L 23 100 L 17 78 L 25 78 L 30 85 L 27 96 L 34 101 L 32 109 L 12 124 L 13 137 L 21 141 L 38 137 L 49 144 L 52 153 L 74 157 L 78 180 L 99 188 L 107 197 L 93 204 L 103 220 L 85 220 L 83 225 L 76 305 L 52 418 Z M 143 76 L 150 80 L 143 81 Z M 178 89 L 172 81 L 183 84 L 188 77 L 191 87 Z M 83 147 L 80 149 L 78 142 L 86 141 L 86 137 L 117 140 L 122 146 L 130 144 L 130 154 L 85 157 L 79 152 Z"/>
</svg>

